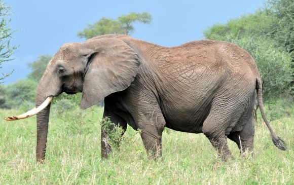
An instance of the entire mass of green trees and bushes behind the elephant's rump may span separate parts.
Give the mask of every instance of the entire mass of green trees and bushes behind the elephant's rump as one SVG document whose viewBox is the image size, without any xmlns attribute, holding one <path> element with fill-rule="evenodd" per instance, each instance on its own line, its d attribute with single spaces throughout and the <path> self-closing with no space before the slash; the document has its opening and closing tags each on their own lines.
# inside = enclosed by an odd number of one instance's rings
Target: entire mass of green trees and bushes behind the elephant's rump
<svg viewBox="0 0 294 185">
<path fill-rule="evenodd" d="M 267 0 L 266 7 L 254 14 L 204 31 L 207 39 L 233 42 L 251 53 L 264 81 L 267 100 L 294 95 L 293 7 L 293 1 Z"/>
</svg>

